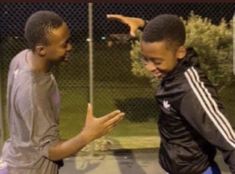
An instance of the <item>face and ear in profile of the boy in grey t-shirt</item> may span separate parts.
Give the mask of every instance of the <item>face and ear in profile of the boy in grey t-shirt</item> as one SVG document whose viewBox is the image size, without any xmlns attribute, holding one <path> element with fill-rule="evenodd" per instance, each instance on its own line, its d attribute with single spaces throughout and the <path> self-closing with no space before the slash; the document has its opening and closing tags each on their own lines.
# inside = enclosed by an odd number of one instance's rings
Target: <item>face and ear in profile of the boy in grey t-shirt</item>
<svg viewBox="0 0 235 174">
<path fill-rule="evenodd" d="M 47 36 L 47 44 L 38 44 L 37 53 L 47 62 L 58 64 L 68 61 L 69 53 L 72 50 L 70 44 L 70 31 L 64 22 L 60 27 L 52 29 Z"/>
</svg>

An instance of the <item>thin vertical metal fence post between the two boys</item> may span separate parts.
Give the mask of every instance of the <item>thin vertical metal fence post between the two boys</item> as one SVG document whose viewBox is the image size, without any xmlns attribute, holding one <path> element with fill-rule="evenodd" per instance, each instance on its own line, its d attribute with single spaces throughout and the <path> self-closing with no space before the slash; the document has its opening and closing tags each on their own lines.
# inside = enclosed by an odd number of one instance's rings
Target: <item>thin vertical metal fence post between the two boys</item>
<svg viewBox="0 0 235 174">
<path fill-rule="evenodd" d="M 94 106 L 94 81 L 93 81 L 93 4 L 88 3 L 88 29 L 89 29 L 89 102 Z M 94 110 L 94 109 L 93 109 Z M 91 143 L 91 155 L 94 155 L 95 144 Z"/>
</svg>

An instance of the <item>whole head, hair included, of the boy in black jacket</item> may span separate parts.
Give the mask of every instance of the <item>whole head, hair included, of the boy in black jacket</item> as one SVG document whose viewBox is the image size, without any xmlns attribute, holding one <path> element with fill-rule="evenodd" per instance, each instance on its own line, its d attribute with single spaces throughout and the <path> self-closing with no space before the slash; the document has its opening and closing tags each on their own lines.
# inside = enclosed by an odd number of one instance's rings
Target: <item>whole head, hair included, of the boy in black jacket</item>
<svg viewBox="0 0 235 174">
<path fill-rule="evenodd" d="M 184 58 L 186 38 L 182 20 L 171 14 L 153 18 L 144 28 L 141 38 L 143 63 L 157 78 L 170 73 Z"/>
</svg>

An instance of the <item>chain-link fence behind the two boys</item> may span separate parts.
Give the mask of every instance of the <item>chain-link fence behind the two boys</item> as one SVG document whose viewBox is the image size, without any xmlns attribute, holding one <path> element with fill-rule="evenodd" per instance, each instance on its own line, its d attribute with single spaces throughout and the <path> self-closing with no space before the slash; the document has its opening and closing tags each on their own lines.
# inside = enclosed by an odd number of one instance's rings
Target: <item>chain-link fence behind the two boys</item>
<svg viewBox="0 0 235 174">
<path fill-rule="evenodd" d="M 149 80 L 136 77 L 131 72 L 131 44 L 124 34 L 128 34 L 128 27 L 116 21 L 108 21 L 106 14 L 116 13 L 151 19 L 161 13 L 172 13 L 187 18 L 190 12 L 194 11 L 195 14 L 218 23 L 221 18 L 232 19 L 234 7 L 234 4 L 226 3 L 93 4 L 95 115 L 103 115 L 116 108 L 126 112 L 126 118 L 112 132 L 112 136 L 155 136 L 157 108 L 154 101 L 155 90 Z M 68 138 L 82 128 L 89 98 L 87 3 L 0 4 L 0 73 L 3 103 L 0 107 L 6 118 L 8 65 L 11 58 L 26 47 L 23 38 L 24 24 L 27 18 L 38 10 L 52 10 L 61 15 L 72 33 L 73 53 L 70 62 L 53 70 L 62 96 L 61 135 Z M 6 119 L 4 122 L 6 125 Z"/>
</svg>

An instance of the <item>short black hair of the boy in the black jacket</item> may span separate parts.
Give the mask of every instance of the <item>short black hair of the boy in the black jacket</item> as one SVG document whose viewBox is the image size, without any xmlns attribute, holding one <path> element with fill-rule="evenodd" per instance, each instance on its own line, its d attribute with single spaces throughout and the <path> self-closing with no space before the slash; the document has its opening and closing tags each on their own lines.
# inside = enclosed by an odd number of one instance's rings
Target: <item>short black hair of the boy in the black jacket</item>
<svg viewBox="0 0 235 174">
<path fill-rule="evenodd" d="M 185 43 L 185 27 L 176 15 L 162 14 L 153 18 L 144 28 L 144 42 L 167 41 L 170 45 L 181 46 Z"/>
</svg>

